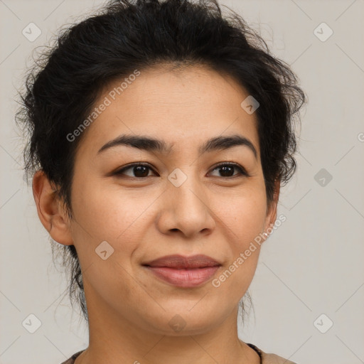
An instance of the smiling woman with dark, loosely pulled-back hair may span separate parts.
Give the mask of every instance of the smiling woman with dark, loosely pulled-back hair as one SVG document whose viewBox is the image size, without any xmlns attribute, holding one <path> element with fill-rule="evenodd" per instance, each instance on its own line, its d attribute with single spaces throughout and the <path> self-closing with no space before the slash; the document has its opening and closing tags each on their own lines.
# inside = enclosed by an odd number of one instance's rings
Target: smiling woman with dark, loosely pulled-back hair
<svg viewBox="0 0 364 364">
<path fill-rule="evenodd" d="M 110 2 L 41 59 L 26 173 L 90 335 L 63 364 L 292 363 L 237 336 L 296 168 L 288 65 L 213 0 Z"/>
</svg>

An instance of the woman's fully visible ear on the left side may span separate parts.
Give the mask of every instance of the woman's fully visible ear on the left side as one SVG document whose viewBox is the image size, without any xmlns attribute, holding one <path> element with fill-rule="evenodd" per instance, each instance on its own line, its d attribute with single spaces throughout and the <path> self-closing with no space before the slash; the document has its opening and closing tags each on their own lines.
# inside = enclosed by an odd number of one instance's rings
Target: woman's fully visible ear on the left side
<svg viewBox="0 0 364 364">
<path fill-rule="evenodd" d="M 73 245 L 68 216 L 42 170 L 33 176 L 33 197 L 39 219 L 53 240 L 63 245 Z"/>
</svg>

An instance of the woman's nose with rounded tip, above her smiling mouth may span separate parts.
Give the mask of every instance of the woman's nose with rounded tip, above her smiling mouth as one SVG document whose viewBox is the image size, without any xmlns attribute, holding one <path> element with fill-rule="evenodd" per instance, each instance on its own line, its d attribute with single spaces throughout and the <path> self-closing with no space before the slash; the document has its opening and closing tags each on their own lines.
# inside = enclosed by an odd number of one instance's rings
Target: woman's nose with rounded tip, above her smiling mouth
<svg viewBox="0 0 364 364">
<path fill-rule="evenodd" d="M 181 186 L 167 183 L 159 208 L 157 226 L 161 233 L 191 238 L 208 235 L 215 228 L 215 212 L 209 203 L 208 190 L 192 173 Z"/>
</svg>

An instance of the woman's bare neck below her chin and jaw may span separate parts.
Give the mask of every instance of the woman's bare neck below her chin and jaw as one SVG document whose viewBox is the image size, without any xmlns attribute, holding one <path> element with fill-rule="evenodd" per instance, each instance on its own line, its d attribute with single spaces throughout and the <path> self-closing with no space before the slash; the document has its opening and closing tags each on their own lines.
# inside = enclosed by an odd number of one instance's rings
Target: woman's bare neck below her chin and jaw
<svg viewBox="0 0 364 364">
<path fill-rule="evenodd" d="M 87 293 L 90 345 L 75 364 L 259 363 L 255 350 L 237 336 L 237 307 L 208 331 L 183 329 L 171 336 L 137 326 Z"/>
</svg>

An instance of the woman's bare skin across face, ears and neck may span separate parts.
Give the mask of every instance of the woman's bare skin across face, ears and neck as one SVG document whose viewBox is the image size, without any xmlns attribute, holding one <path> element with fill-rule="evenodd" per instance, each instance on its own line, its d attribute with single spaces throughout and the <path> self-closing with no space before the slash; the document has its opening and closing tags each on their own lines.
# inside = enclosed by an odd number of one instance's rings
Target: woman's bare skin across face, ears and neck
<svg viewBox="0 0 364 364">
<path fill-rule="evenodd" d="M 75 245 L 82 267 L 90 346 L 76 364 L 259 363 L 237 337 L 238 302 L 252 282 L 259 247 L 218 288 L 211 280 L 193 289 L 174 287 L 141 266 L 164 255 L 205 254 L 223 264 L 216 278 L 274 224 L 279 183 L 267 206 L 257 120 L 240 107 L 247 95 L 235 80 L 208 68 L 142 70 L 82 135 L 72 220 L 44 174 L 35 174 L 41 222 L 53 240 Z M 173 153 L 116 146 L 97 154 L 119 134 L 164 139 Z M 250 139 L 258 158 L 247 146 L 198 156 L 204 141 L 231 134 Z M 136 162 L 150 165 L 148 177 L 135 177 L 133 168 L 111 175 Z M 240 164 L 250 176 L 236 168 L 222 174 L 215 165 L 224 162 Z M 187 176 L 179 187 L 168 181 L 175 168 Z M 95 249 L 105 240 L 114 252 L 103 260 Z M 186 323 L 179 332 L 168 324 L 176 314 Z"/>
</svg>

